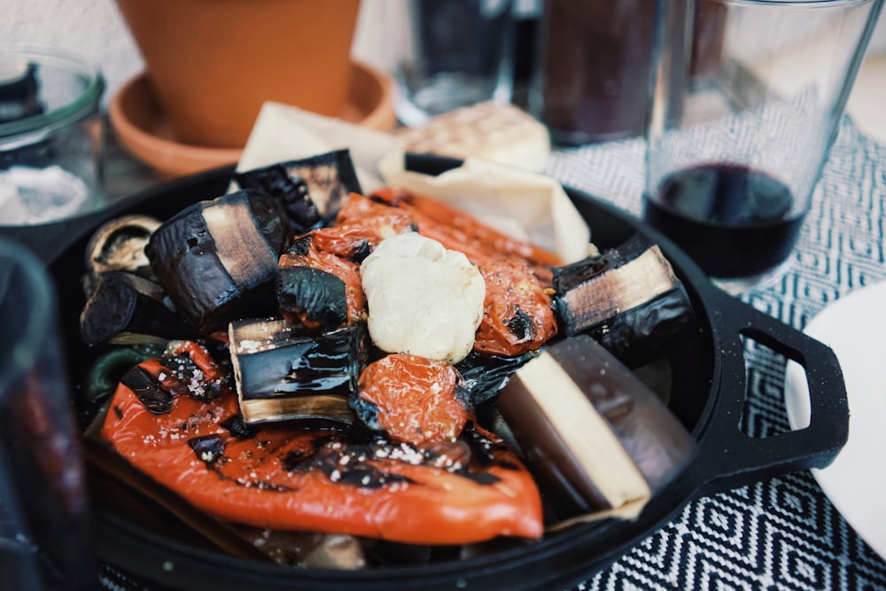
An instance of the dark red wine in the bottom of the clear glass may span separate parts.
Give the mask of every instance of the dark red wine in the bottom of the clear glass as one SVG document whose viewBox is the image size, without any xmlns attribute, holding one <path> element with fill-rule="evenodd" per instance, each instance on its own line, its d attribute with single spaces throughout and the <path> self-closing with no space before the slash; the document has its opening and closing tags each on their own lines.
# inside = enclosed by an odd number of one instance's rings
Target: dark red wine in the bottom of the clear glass
<svg viewBox="0 0 886 591">
<path fill-rule="evenodd" d="M 704 164 L 666 176 L 656 195 L 646 195 L 643 214 L 709 276 L 740 279 L 788 258 L 804 218 L 793 201 L 771 175 Z"/>
</svg>

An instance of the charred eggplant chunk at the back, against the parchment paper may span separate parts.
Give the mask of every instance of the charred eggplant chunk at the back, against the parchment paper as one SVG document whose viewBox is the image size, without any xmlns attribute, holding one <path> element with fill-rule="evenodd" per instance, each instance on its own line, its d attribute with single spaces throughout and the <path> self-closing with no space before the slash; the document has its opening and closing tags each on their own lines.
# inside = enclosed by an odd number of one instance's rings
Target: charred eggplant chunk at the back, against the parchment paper
<svg viewBox="0 0 886 591">
<path fill-rule="evenodd" d="M 259 190 L 279 200 L 296 234 L 333 216 L 350 193 L 362 192 L 347 150 L 289 160 L 234 177 L 240 188 Z"/>
</svg>

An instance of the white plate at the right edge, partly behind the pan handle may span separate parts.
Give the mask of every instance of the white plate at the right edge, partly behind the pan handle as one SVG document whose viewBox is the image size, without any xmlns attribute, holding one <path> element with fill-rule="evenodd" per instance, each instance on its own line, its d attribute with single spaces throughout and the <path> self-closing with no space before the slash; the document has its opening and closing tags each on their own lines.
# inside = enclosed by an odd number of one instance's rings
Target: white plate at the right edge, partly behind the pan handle
<svg viewBox="0 0 886 591">
<path fill-rule="evenodd" d="M 886 282 L 837 299 L 804 332 L 834 349 L 850 412 L 845 447 L 812 476 L 855 531 L 886 557 Z M 795 362 L 788 363 L 785 405 L 792 429 L 809 424 L 809 390 Z"/>
</svg>

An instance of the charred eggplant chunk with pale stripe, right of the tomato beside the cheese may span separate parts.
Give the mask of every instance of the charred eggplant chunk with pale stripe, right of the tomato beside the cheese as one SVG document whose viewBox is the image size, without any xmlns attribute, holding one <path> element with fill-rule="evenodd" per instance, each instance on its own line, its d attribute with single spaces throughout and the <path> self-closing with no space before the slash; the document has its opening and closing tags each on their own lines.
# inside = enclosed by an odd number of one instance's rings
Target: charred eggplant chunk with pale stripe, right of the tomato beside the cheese
<svg viewBox="0 0 886 591">
<path fill-rule="evenodd" d="M 641 234 L 554 268 L 554 289 L 563 333 L 587 333 L 630 366 L 662 354 L 695 325 L 692 303 L 671 263 Z"/>
</svg>

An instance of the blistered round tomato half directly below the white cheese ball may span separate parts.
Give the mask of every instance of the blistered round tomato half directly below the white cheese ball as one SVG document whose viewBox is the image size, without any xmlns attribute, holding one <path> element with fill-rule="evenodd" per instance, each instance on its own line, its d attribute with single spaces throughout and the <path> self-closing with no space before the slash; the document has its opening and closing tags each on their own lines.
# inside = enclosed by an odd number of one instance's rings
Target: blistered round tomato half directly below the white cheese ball
<svg viewBox="0 0 886 591">
<path fill-rule="evenodd" d="M 473 415 L 455 367 L 417 355 L 370 363 L 351 406 L 370 428 L 419 447 L 457 438 Z"/>
</svg>

